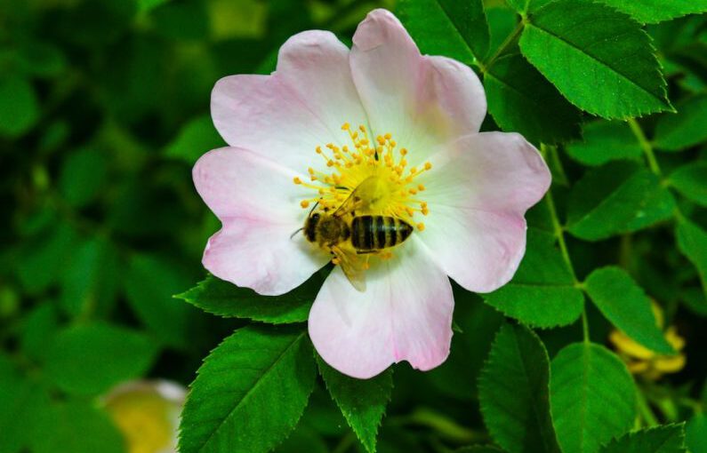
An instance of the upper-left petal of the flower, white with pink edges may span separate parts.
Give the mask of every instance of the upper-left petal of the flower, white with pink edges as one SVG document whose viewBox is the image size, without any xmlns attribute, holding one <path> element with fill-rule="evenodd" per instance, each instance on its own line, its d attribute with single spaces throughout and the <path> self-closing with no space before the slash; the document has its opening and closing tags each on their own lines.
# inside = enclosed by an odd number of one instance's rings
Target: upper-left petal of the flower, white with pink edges
<svg viewBox="0 0 707 453">
<path fill-rule="evenodd" d="M 213 87 L 211 112 L 229 145 L 297 171 L 318 163 L 317 146 L 348 139 L 341 124 L 366 124 L 349 49 L 332 33 L 317 30 L 287 40 L 271 76 L 222 78 Z"/>
</svg>

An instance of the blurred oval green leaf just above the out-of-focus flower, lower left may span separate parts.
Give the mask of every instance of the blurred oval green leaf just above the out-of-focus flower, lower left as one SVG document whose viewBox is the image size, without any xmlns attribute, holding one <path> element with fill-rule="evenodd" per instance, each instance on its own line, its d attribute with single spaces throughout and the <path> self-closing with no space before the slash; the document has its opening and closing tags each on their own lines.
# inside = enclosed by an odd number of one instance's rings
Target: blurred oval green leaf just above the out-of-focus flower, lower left
<svg viewBox="0 0 707 453">
<path fill-rule="evenodd" d="M 47 347 L 47 375 L 61 390 L 78 395 L 102 393 L 141 377 L 157 357 L 152 339 L 101 322 L 61 330 Z"/>
</svg>

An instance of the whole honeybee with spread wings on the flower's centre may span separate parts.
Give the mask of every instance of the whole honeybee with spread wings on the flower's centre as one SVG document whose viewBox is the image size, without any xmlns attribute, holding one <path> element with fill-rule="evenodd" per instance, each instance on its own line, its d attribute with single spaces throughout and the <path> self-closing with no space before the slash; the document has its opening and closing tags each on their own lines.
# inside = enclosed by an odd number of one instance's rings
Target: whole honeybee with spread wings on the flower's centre
<svg viewBox="0 0 707 453">
<path fill-rule="evenodd" d="M 368 211 L 376 201 L 375 196 L 366 196 L 371 195 L 373 178 L 362 182 L 332 214 L 312 210 L 302 228 L 309 242 L 333 254 L 333 262 L 341 265 L 349 282 L 359 291 L 366 290 L 364 276 L 369 255 L 405 242 L 414 229 L 395 217 L 357 215 L 357 211 Z"/>
</svg>

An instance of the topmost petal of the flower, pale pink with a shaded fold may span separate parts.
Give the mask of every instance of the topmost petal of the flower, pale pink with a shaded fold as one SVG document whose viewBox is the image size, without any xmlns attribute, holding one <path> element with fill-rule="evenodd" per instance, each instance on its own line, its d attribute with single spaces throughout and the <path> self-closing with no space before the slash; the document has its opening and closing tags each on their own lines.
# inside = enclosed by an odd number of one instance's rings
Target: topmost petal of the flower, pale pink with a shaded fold
<svg viewBox="0 0 707 453">
<path fill-rule="evenodd" d="M 486 95 L 469 67 L 422 56 L 400 21 L 385 10 L 368 14 L 353 43 L 351 73 L 371 127 L 377 134 L 392 133 L 410 149 L 411 159 L 423 160 L 450 139 L 478 132 Z"/>
</svg>

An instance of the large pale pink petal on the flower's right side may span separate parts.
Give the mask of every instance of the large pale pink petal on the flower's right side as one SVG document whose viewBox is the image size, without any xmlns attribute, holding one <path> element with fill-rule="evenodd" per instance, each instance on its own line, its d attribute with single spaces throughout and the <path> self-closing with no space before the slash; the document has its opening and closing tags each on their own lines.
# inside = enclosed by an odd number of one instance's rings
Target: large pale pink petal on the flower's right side
<svg viewBox="0 0 707 453">
<path fill-rule="evenodd" d="M 496 290 L 523 258 L 524 215 L 550 187 L 547 165 L 526 139 L 502 132 L 464 137 L 430 161 L 420 239 L 462 287 Z"/>
</svg>

